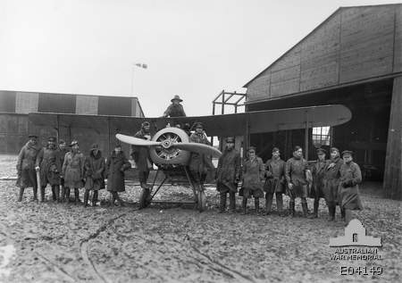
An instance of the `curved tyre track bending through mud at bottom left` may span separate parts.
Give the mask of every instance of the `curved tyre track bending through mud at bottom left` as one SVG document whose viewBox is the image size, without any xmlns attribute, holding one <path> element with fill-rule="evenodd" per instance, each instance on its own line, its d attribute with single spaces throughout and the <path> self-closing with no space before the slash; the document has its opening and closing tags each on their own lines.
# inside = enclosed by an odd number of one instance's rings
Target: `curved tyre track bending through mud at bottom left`
<svg viewBox="0 0 402 283">
<path fill-rule="evenodd" d="M 91 258 L 88 256 L 88 246 L 89 246 L 89 241 L 92 239 L 96 239 L 102 232 L 105 231 L 109 226 L 113 225 L 114 221 L 117 221 L 121 219 L 122 217 L 126 216 L 127 212 L 123 212 L 110 220 L 106 221 L 104 225 L 100 226 L 96 231 L 92 234 L 90 234 L 88 237 L 84 238 L 83 240 L 80 241 L 80 254 L 82 256 L 82 259 L 84 262 L 88 264 L 92 268 L 92 273 L 96 277 L 96 281 L 98 282 L 105 282 L 105 283 L 110 283 L 109 279 L 107 279 L 104 275 L 102 275 L 97 269 L 95 263 L 91 260 Z"/>
</svg>

